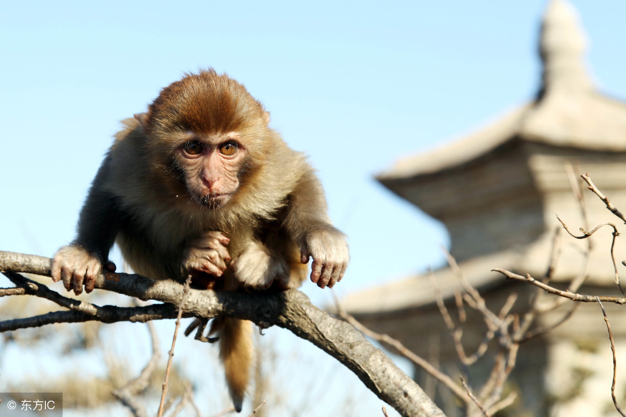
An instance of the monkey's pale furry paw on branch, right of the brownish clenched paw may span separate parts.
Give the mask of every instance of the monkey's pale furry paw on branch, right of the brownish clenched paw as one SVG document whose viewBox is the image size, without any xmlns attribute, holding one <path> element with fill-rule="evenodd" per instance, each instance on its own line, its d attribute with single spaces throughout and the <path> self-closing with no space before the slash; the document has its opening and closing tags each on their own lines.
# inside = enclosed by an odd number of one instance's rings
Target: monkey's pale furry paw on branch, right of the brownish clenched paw
<svg viewBox="0 0 626 417">
<path fill-rule="evenodd" d="M 289 267 L 279 257 L 272 256 L 263 244 L 252 240 L 232 262 L 237 281 L 247 288 L 268 289 L 276 281 L 282 288 L 289 284 Z"/>
</svg>

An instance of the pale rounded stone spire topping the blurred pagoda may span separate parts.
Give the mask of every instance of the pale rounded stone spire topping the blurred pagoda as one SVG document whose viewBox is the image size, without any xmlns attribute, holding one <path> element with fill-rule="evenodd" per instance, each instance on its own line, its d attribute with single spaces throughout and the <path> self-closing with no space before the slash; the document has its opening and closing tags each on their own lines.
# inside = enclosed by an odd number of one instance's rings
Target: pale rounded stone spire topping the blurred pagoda
<svg viewBox="0 0 626 417">
<path fill-rule="evenodd" d="M 585 65 L 587 36 L 567 0 L 550 0 L 541 23 L 539 54 L 543 61 L 541 93 L 593 90 Z"/>
</svg>

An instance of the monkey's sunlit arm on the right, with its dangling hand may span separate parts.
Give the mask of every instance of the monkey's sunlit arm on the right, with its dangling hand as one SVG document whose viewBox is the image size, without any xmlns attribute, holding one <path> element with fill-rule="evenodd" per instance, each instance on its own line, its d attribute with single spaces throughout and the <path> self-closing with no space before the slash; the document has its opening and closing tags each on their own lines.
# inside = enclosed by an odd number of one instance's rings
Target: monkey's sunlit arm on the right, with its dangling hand
<svg viewBox="0 0 626 417">
<path fill-rule="evenodd" d="M 321 288 L 341 281 L 350 260 L 346 235 L 332 225 L 324 189 L 311 168 L 289 195 L 284 227 L 299 245 L 301 262 L 313 258 L 311 281 Z"/>
</svg>

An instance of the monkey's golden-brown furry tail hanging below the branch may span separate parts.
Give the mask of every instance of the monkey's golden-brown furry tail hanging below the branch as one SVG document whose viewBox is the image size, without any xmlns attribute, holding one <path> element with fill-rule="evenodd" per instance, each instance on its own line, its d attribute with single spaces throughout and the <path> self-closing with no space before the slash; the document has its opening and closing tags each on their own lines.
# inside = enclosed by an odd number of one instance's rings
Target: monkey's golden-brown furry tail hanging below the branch
<svg viewBox="0 0 626 417">
<path fill-rule="evenodd" d="M 217 317 L 211 325 L 211 333 L 219 332 L 220 359 L 224 364 L 226 384 L 237 413 L 244 402 L 245 389 L 250 382 L 250 368 L 254 345 L 252 343 L 252 322 Z"/>
</svg>

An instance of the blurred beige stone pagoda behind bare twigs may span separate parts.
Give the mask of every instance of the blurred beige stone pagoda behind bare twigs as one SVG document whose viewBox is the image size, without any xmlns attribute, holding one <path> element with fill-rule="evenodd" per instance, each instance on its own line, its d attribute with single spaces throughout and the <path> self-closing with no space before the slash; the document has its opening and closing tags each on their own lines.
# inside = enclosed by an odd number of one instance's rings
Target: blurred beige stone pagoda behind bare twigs
<svg viewBox="0 0 626 417">
<path fill-rule="evenodd" d="M 535 99 L 445 147 L 403 158 L 377 177 L 389 190 L 446 225 L 451 254 L 493 311 L 500 309 L 511 292 L 520 296 L 515 312 L 529 306 L 535 287 L 506 281 L 490 271 L 503 268 L 545 277 L 555 230 L 561 228 L 555 213 L 574 231 L 579 227 L 591 230 L 603 222 L 619 223 L 595 195 L 579 185 L 586 222 L 573 192 L 580 173 L 588 172 L 618 208 L 626 208 L 626 103 L 595 88 L 583 59 L 586 48 L 575 9 L 565 0 L 550 1 L 541 23 L 543 74 Z M 613 284 L 612 229 L 605 229 L 592 237 L 590 248 L 588 240 L 561 234 L 555 286 L 565 287 L 587 275 L 579 292 L 620 294 Z M 615 252 L 617 262 L 624 256 L 620 249 Z M 461 291 L 458 277 L 449 267 L 433 274 L 453 311 L 454 293 Z M 428 274 L 415 275 L 353 293 L 343 305 L 371 329 L 399 339 L 431 363 L 438 363 L 453 379 L 469 374 L 480 386 L 493 364 L 493 353 L 471 369 L 459 367 L 434 291 Z M 552 296 L 543 299 L 553 301 Z M 552 326 L 572 307 L 567 302 L 542 314 L 536 326 Z M 620 354 L 626 358 L 626 311 L 622 306 L 607 309 L 618 358 Z M 486 327 L 481 315 L 469 310 L 465 327 L 463 344 L 471 353 Z M 625 374 L 626 368 L 618 372 L 617 398 L 622 401 Z M 455 415 L 449 394 L 435 389 L 419 370 L 416 379 L 436 395 L 446 414 Z M 611 380 L 610 344 L 600 306 L 583 305 L 562 326 L 520 347 L 507 386 L 520 392 L 520 401 L 498 415 L 615 414 Z"/>
</svg>

